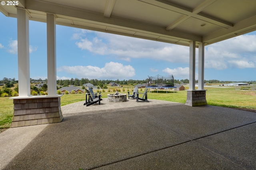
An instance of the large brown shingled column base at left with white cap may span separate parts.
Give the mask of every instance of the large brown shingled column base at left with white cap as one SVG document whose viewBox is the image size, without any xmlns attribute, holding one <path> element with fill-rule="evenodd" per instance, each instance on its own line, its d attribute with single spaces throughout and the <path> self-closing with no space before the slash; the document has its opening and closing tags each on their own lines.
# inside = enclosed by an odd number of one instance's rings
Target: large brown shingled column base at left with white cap
<svg viewBox="0 0 256 170">
<path fill-rule="evenodd" d="M 10 127 L 61 122 L 63 115 L 60 109 L 60 96 L 62 95 L 12 98 L 14 99 L 14 116 Z"/>
</svg>

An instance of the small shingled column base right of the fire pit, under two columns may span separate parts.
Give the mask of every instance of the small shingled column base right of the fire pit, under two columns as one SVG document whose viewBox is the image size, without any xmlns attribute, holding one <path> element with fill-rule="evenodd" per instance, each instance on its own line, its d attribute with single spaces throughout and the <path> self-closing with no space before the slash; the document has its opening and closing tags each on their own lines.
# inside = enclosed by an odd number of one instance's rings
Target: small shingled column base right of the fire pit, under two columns
<svg viewBox="0 0 256 170">
<path fill-rule="evenodd" d="M 204 106 L 206 102 L 206 90 L 188 90 L 186 106 Z"/>
</svg>

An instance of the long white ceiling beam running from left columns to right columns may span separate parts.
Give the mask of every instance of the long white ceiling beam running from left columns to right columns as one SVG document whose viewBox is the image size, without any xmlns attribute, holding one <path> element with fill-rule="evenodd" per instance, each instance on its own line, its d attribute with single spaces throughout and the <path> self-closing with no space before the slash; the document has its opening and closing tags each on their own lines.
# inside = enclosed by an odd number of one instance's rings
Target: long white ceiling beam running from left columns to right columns
<svg viewBox="0 0 256 170">
<path fill-rule="evenodd" d="M 48 2 L 36 1 L 36 0 L 26 0 L 26 8 L 28 10 L 36 10 L 46 13 L 52 13 L 57 15 L 65 16 L 65 18 L 69 18 L 70 20 L 74 20 L 75 18 L 82 19 L 84 22 L 95 23 L 98 25 L 104 25 L 109 27 L 117 27 L 120 29 L 129 29 L 132 31 L 138 31 L 143 33 L 148 33 L 158 36 L 168 36 L 168 37 L 178 37 L 184 41 L 192 40 L 202 42 L 202 37 L 199 35 L 194 35 L 181 31 L 168 31 L 164 27 L 160 27 L 157 25 L 151 25 L 142 23 L 139 21 L 128 20 L 125 18 L 106 18 L 103 17 L 100 13 L 90 12 L 86 10 L 81 10 L 77 8 L 70 8 L 68 6 L 61 6 L 58 4 L 51 4 Z M 67 17 L 70 16 L 70 17 Z"/>
</svg>

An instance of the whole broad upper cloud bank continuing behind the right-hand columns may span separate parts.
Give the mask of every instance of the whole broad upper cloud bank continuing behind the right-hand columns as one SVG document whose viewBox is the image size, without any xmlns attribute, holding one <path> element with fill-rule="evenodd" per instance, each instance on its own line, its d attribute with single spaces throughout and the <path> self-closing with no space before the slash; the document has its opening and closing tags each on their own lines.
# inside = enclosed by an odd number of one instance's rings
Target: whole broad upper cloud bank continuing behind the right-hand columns
<svg viewBox="0 0 256 170">
<path fill-rule="evenodd" d="M 78 39 L 76 45 L 82 50 L 99 55 L 112 55 L 125 61 L 153 59 L 170 63 L 189 62 L 189 47 L 181 45 L 84 30 L 76 31 L 73 37 Z M 206 46 L 205 68 L 255 68 L 255 53 L 256 35 L 240 35 Z"/>
</svg>

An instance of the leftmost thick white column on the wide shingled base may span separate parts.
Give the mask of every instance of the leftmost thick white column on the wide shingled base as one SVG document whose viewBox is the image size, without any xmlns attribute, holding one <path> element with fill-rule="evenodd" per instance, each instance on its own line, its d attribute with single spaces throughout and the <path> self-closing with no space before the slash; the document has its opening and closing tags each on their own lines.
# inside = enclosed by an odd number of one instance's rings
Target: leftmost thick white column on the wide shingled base
<svg viewBox="0 0 256 170">
<path fill-rule="evenodd" d="M 30 95 L 29 19 L 24 9 L 17 8 L 19 96 Z"/>
</svg>

